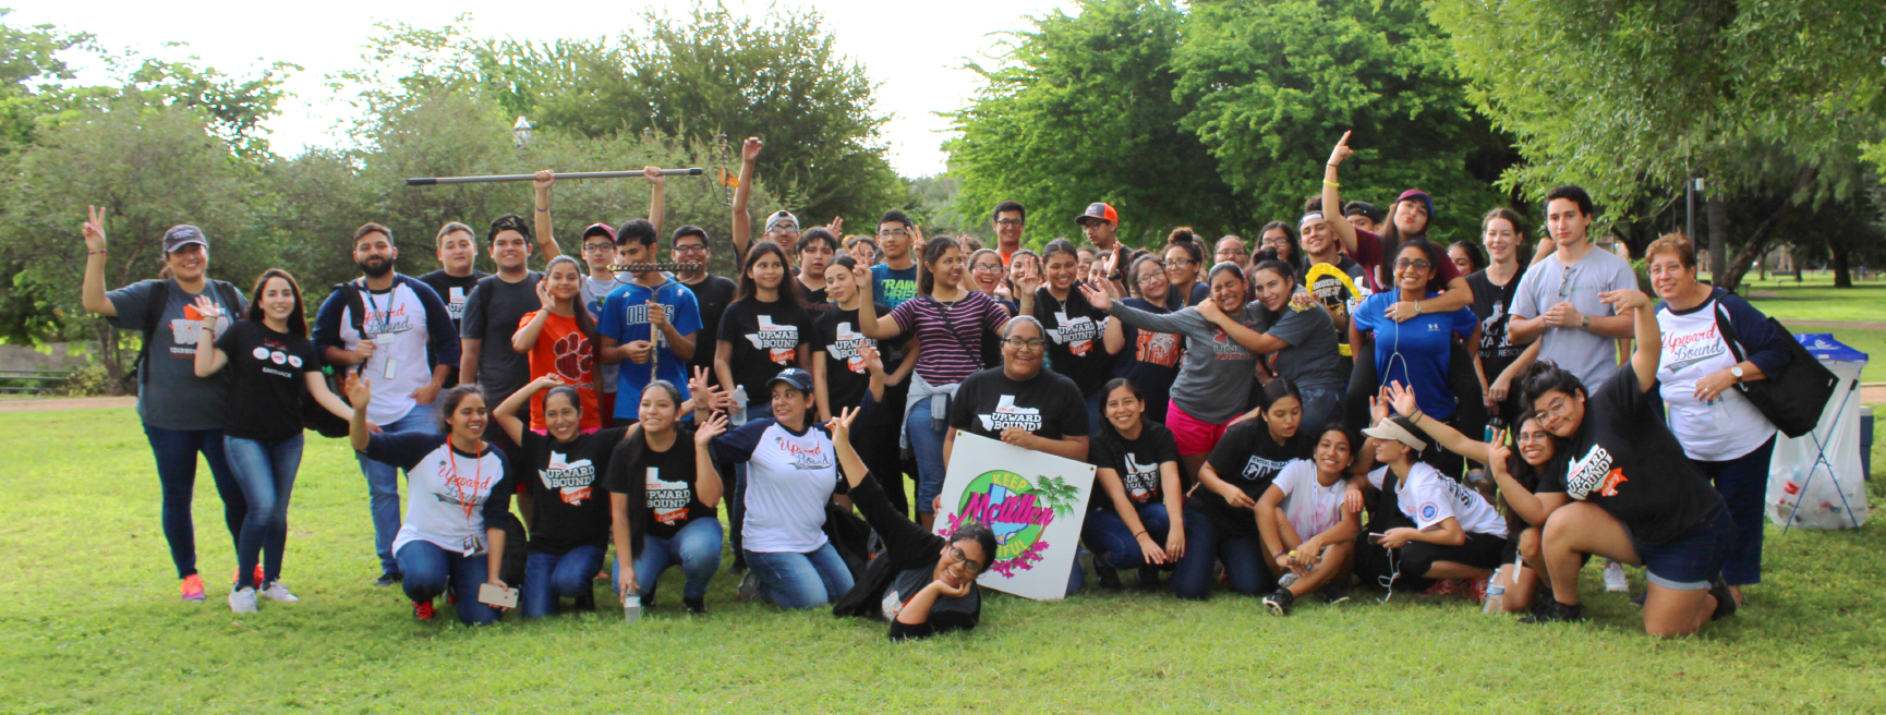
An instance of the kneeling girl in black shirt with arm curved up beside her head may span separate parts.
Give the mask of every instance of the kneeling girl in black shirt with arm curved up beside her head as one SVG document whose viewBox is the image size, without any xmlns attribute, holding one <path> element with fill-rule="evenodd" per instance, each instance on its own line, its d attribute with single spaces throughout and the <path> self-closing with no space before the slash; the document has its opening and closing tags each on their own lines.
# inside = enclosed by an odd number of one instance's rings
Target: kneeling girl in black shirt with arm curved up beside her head
<svg viewBox="0 0 1886 715">
<path fill-rule="evenodd" d="M 517 417 L 541 391 L 551 391 L 543 396 L 547 436 L 526 430 Z M 609 549 L 609 502 L 602 498 L 598 477 L 609 468 L 609 455 L 628 428 L 581 434 L 587 423 L 583 402 L 575 387 L 551 372 L 490 413 L 522 451 L 517 464 L 530 464 L 536 472 L 521 475 L 524 494 L 532 496 L 530 551 L 519 600 L 526 619 L 556 613 L 560 598 L 573 598 L 579 609 L 596 609 L 592 581 Z"/>
</svg>

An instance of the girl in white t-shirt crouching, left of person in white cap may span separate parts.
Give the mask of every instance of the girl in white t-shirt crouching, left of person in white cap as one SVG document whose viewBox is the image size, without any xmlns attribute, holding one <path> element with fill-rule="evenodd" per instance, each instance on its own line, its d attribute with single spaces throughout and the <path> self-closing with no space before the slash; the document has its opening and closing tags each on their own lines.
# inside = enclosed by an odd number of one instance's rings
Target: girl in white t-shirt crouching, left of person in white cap
<svg viewBox="0 0 1886 715">
<path fill-rule="evenodd" d="M 1313 458 L 1284 464 L 1271 487 L 1258 498 L 1258 534 L 1277 592 L 1264 606 L 1290 615 L 1290 606 L 1322 589 L 1324 600 L 1348 600 L 1348 570 L 1362 532 L 1362 491 L 1348 481 L 1348 466 L 1362 441 L 1343 423 L 1328 423 L 1316 436 Z"/>
</svg>

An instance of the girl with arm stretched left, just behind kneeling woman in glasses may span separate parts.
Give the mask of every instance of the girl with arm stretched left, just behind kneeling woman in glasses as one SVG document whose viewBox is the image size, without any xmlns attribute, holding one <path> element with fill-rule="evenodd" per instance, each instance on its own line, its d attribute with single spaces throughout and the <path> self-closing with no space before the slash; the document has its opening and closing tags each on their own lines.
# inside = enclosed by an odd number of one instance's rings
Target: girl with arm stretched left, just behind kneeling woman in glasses
<svg viewBox="0 0 1886 715">
<path fill-rule="evenodd" d="M 1494 583 L 1507 589 L 1501 607 L 1507 613 L 1524 613 L 1531 607 L 1533 596 L 1545 575 L 1545 562 L 1539 560 L 1539 534 L 1552 507 L 1533 491 L 1539 487 L 1539 474 L 1547 462 L 1558 457 L 1558 438 L 1539 426 L 1539 413 L 1526 407 L 1518 419 L 1518 455 L 1507 447 L 1507 434 L 1496 436 L 1494 443 L 1469 440 L 1447 423 L 1428 419 L 1420 413 L 1414 391 L 1392 383 L 1384 389 L 1390 404 L 1401 417 L 1428 432 L 1447 451 L 1486 464 L 1499 485 L 1499 500 L 1507 506 L 1507 545 L 1499 555 L 1499 574 Z M 1518 519 L 1514 519 L 1518 517 Z"/>
</svg>

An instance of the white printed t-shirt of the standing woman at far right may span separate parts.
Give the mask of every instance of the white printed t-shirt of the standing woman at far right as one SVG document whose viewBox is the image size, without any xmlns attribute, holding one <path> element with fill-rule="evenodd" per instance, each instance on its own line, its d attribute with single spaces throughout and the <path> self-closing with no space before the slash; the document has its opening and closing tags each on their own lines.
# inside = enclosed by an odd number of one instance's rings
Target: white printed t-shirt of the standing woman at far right
<svg viewBox="0 0 1886 715">
<path fill-rule="evenodd" d="M 1656 311 L 1658 332 L 1663 334 L 1663 353 L 1658 357 L 1658 392 L 1667 406 L 1669 430 L 1682 443 L 1682 453 L 1694 460 L 1728 462 L 1748 455 L 1775 436 L 1762 409 L 1741 391 L 1722 391 L 1716 402 L 1696 400 L 1696 381 L 1735 366 L 1735 353 L 1724 341 L 1716 324 L 1716 300 L 1711 298 L 1682 315 L 1665 304 Z"/>
</svg>

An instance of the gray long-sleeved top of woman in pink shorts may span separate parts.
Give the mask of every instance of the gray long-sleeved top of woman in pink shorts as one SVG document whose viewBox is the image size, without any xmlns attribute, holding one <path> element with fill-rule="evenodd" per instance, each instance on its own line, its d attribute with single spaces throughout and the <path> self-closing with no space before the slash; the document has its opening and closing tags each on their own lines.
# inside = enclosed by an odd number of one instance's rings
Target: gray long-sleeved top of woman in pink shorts
<svg viewBox="0 0 1886 715">
<path fill-rule="evenodd" d="M 1250 383 L 1256 379 L 1258 357 L 1198 315 L 1198 308 L 1154 315 L 1115 300 L 1107 306 L 1107 315 L 1139 330 L 1186 338 L 1184 362 L 1179 364 L 1179 379 L 1173 381 L 1171 389 L 1173 404 L 1186 415 L 1201 423 L 1222 424 L 1245 411 L 1245 402 L 1250 400 Z M 1271 326 L 1271 315 L 1264 304 L 1250 302 L 1237 315 L 1237 323 L 1266 332 Z"/>
</svg>

